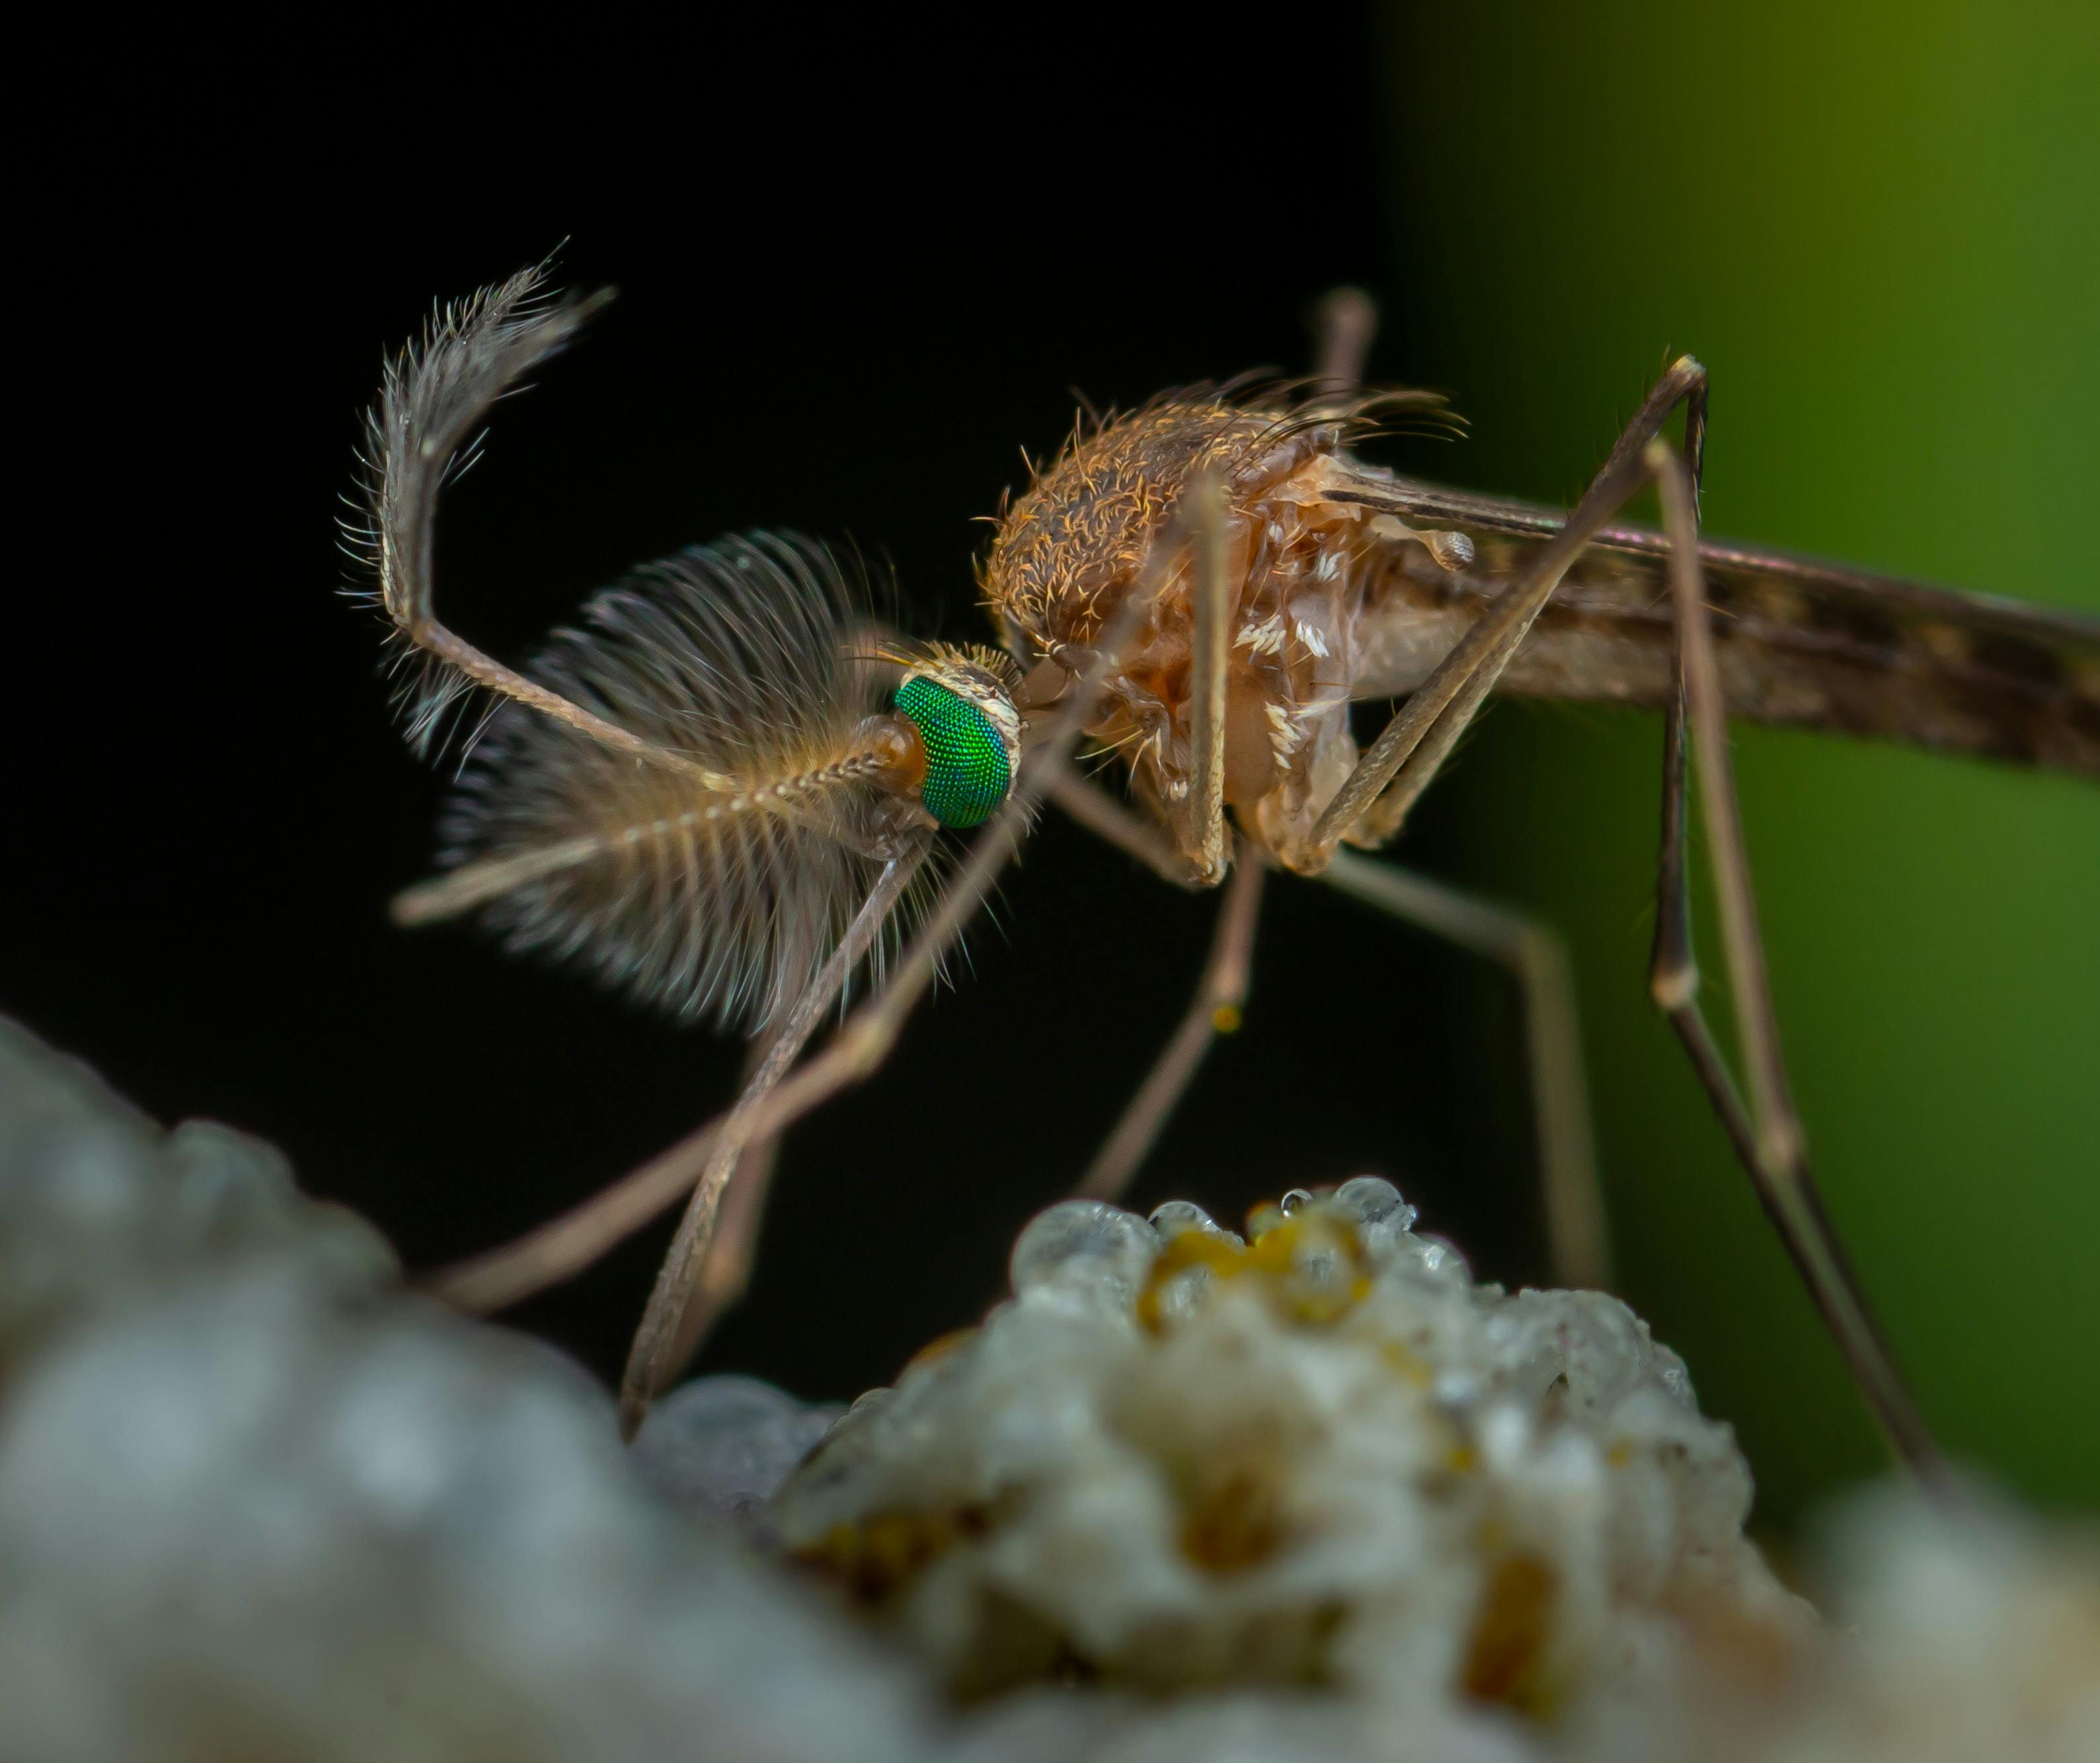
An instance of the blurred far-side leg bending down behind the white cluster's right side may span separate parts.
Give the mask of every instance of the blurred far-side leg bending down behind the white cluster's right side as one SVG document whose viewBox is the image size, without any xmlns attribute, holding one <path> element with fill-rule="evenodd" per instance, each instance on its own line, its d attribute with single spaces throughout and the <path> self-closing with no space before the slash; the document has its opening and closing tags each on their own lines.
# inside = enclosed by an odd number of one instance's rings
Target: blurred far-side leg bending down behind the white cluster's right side
<svg viewBox="0 0 2100 1763">
<path fill-rule="evenodd" d="M 1611 1230 L 1590 1133 L 1575 974 L 1558 932 L 1478 894 L 1346 850 L 1334 854 L 1321 879 L 1516 976 L 1525 993 L 1525 1058 L 1554 1278 L 1609 1291 Z"/>
</svg>

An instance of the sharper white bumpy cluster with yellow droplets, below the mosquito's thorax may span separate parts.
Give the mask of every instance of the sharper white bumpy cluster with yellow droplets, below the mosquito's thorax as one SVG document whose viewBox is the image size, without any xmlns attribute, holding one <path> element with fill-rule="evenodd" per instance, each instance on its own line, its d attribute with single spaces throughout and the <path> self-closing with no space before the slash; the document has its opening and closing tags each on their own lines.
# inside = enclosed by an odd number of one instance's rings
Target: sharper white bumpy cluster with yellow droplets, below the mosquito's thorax
<svg viewBox="0 0 2100 1763">
<path fill-rule="evenodd" d="M 1569 1725 L 1808 1622 L 1749 1471 L 1600 1293 L 1476 1287 L 1361 1177 L 1252 1219 L 1037 1217 L 1012 1301 L 775 1507 L 964 1694 L 1327 1685 Z M 1726 1664 L 1726 1660 L 1720 1660 Z"/>
</svg>

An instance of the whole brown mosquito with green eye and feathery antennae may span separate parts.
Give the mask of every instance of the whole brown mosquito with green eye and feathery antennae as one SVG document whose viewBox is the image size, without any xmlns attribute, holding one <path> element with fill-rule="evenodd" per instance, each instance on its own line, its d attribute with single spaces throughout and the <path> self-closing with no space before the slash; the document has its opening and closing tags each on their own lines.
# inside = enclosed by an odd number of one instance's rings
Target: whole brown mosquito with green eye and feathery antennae
<svg viewBox="0 0 2100 1763">
<path fill-rule="evenodd" d="M 441 309 L 386 365 L 351 537 L 407 670 L 412 743 L 466 730 L 441 873 L 393 911 L 479 913 L 512 949 L 750 1031 L 754 1056 L 724 1114 L 443 1270 L 441 1295 L 502 1308 L 685 1201 L 622 1379 L 632 1436 L 743 1289 L 773 1142 L 880 1066 L 1044 802 L 1172 884 L 1224 890 L 1189 1012 L 1079 1192 L 1126 1190 L 1237 1026 L 1262 888 L 1287 869 L 1516 972 L 1556 1274 L 1604 1284 L 1558 940 L 1359 852 L 1403 831 L 1489 693 L 1636 703 L 1663 711 L 1648 989 L 1892 1448 L 1945 1480 L 1810 1180 L 1726 718 L 2100 777 L 2100 621 L 1701 541 L 1707 374 L 1690 357 L 1571 512 L 1365 464 L 1350 447 L 1367 434 L 1445 418 L 1424 392 L 1359 390 L 1376 311 L 1344 290 L 1321 309 L 1310 380 L 1199 386 L 1082 424 L 1002 506 L 981 567 L 998 646 L 903 638 L 823 546 L 758 533 L 636 571 L 514 672 L 437 619 L 439 489 L 489 407 L 603 298 L 559 300 L 529 269 Z M 1617 525 L 1648 487 L 1661 529 Z M 1399 701 L 1363 751 L 1357 701 Z M 1082 749 L 1124 762 L 1128 804 L 1082 777 Z M 1699 1005 L 1693 772 L 1741 1085 Z M 970 829 L 951 858 L 947 835 Z M 804 1060 L 861 970 L 865 1001 Z"/>
</svg>

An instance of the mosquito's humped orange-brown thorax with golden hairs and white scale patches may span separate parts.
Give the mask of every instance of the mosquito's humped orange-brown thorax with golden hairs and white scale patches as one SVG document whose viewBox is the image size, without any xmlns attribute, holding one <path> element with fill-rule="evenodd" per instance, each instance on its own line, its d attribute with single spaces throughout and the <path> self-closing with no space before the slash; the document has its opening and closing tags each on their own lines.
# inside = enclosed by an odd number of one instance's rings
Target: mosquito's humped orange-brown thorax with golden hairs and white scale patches
<svg viewBox="0 0 2100 1763">
<path fill-rule="evenodd" d="M 1327 491 L 1361 474 L 1334 411 L 1174 395 L 1077 439 L 1004 514 L 983 571 L 1008 646 L 1046 701 L 1092 655 L 1199 472 L 1226 500 L 1224 800 L 1281 861 L 1306 848 L 1357 762 L 1348 732 L 1369 560 L 1394 525 Z M 1121 751 L 1170 827 L 1191 774 L 1191 548 L 1159 558 L 1161 592 L 1088 724 Z"/>
</svg>

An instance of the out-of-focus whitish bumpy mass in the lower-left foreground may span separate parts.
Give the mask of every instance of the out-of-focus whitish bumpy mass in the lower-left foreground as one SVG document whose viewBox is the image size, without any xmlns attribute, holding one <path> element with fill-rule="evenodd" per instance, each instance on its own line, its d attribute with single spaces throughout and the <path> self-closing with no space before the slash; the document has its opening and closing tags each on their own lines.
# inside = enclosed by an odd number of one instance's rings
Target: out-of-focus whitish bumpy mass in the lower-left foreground
<svg viewBox="0 0 2100 1763">
<path fill-rule="evenodd" d="M 918 1763 L 926 1702 L 573 1364 L 0 1020 L 0 1759 Z"/>
</svg>

